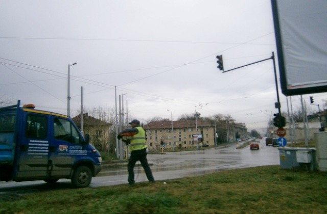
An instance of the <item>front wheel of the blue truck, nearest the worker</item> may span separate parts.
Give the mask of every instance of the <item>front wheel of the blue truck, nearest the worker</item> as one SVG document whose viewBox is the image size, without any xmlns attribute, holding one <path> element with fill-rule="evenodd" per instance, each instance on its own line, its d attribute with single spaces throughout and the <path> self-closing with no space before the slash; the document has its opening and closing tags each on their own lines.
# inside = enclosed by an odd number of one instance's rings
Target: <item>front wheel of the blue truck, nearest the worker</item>
<svg viewBox="0 0 327 214">
<path fill-rule="evenodd" d="M 75 169 L 72 184 L 76 188 L 85 188 L 92 180 L 92 173 L 88 167 L 80 166 Z"/>
</svg>

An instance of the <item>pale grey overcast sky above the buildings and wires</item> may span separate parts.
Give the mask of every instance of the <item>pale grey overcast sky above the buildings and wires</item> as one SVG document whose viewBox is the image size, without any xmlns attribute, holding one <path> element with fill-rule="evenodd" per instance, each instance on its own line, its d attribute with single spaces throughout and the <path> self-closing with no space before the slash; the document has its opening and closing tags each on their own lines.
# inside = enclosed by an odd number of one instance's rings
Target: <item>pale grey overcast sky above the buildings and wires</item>
<svg viewBox="0 0 327 214">
<path fill-rule="evenodd" d="M 84 109 L 106 109 L 115 86 L 141 121 L 197 109 L 262 131 L 277 113 L 272 60 L 226 73 L 216 62 L 223 55 L 228 70 L 276 55 L 270 0 L 0 0 L 0 29 L 0 95 L 38 109 L 67 114 L 67 70 L 77 63 L 72 117 L 81 87 Z M 309 96 L 322 109 L 326 93 L 303 95 L 317 111 Z"/>
</svg>

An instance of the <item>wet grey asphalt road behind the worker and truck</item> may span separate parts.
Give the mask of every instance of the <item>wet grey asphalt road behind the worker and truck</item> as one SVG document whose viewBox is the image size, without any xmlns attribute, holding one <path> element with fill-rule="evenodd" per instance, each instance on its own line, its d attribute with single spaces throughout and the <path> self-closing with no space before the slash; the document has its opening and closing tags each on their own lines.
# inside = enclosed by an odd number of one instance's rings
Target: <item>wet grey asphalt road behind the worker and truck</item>
<svg viewBox="0 0 327 214">
<path fill-rule="evenodd" d="M 153 176 L 156 181 L 167 181 L 190 177 L 222 170 L 279 165 L 278 147 L 266 146 L 260 140 L 260 150 L 250 150 L 249 146 L 236 149 L 238 144 L 216 147 L 205 150 L 167 152 L 148 154 Z M 136 182 L 147 181 L 142 166 L 135 166 Z M 127 168 L 103 168 L 99 175 L 92 179 L 90 187 L 117 185 L 127 183 Z M 28 192 L 49 191 L 53 189 L 72 188 L 70 180 L 60 179 L 55 185 L 44 181 L 0 182 L 0 195 L 7 192 L 28 194 Z"/>
</svg>

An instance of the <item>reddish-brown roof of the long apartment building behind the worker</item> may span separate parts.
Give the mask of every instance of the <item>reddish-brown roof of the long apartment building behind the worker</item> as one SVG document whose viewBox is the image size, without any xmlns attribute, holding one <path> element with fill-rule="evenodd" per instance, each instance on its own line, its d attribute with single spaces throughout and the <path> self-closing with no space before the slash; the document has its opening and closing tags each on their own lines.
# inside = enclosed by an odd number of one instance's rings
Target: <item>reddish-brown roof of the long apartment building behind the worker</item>
<svg viewBox="0 0 327 214">
<path fill-rule="evenodd" d="M 172 121 L 153 121 L 149 122 L 149 129 L 170 129 L 172 128 Z M 148 128 L 148 124 L 143 127 Z M 193 128 L 196 127 L 214 127 L 214 124 L 209 121 L 198 120 L 195 124 L 195 120 L 179 120 L 173 121 L 173 128 Z"/>
</svg>

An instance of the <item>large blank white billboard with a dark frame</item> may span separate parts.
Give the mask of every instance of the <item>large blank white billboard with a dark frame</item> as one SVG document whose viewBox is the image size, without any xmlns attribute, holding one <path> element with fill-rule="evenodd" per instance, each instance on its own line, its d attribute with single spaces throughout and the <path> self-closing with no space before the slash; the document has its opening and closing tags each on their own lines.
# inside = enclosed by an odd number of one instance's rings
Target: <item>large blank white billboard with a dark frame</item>
<svg viewBox="0 0 327 214">
<path fill-rule="evenodd" d="M 327 92 L 327 0 L 271 0 L 285 95 Z"/>
</svg>

